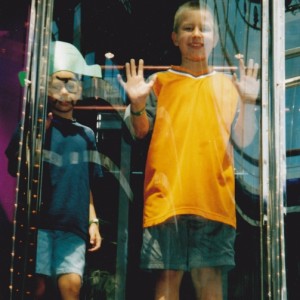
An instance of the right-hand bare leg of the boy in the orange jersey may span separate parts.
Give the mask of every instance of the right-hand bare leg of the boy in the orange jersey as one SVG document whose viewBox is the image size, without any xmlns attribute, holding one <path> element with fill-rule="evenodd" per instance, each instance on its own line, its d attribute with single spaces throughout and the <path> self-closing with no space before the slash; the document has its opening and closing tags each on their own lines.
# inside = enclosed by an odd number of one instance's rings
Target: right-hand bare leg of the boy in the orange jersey
<svg viewBox="0 0 300 300">
<path fill-rule="evenodd" d="M 201 268 L 191 271 L 197 300 L 222 300 L 222 271 L 219 268 Z"/>
</svg>

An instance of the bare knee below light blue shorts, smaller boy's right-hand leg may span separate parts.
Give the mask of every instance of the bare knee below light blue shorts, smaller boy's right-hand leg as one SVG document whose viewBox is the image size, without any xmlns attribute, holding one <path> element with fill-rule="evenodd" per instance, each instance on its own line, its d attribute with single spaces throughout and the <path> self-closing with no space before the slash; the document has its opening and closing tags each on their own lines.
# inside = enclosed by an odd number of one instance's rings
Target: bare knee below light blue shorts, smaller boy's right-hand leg
<svg viewBox="0 0 300 300">
<path fill-rule="evenodd" d="M 81 289 L 81 277 L 70 273 L 58 278 L 58 289 L 62 300 L 79 300 Z"/>
</svg>

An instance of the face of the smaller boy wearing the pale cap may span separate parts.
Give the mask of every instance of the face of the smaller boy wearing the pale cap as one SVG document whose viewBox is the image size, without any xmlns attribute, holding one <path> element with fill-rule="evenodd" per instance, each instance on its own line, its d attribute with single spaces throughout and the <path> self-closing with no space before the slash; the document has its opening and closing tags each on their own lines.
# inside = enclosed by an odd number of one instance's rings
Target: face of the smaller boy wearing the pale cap
<svg viewBox="0 0 300 300">
<path fill-rule="evenodd" d="M 81 97 L 81 82 L 69 71 L 59 71 L 49 79 L 48 99 L 52 112 L 71 117 L 73 107 Z"/>
</svg>

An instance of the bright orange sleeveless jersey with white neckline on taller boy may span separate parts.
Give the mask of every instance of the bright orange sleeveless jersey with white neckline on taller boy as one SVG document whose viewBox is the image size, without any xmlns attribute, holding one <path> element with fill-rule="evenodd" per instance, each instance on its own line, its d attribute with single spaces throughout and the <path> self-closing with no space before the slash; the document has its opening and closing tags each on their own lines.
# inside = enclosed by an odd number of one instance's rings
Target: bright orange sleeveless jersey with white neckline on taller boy
<svg viewBox="0 0 300 300">
<path fill-rule="evenodd" d="M 192 214 L 236 227 L 230 145 L 238 94 L 224 74 L 161 72 L 144 182 L 144 227 Z"/>
</svg>

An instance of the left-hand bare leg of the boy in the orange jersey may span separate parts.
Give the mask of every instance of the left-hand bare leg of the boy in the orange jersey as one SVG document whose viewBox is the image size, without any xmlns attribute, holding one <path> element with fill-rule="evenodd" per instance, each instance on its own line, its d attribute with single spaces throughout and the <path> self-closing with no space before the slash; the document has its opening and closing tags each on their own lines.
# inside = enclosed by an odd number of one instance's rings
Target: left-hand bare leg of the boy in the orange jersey
<svg viewBox="0 0 300 300">
<path fill-rule="evenodd" d="M 160 271 L 156 287 L 155 300 L 179 300 L 183 271 Z"/>
</svg>

